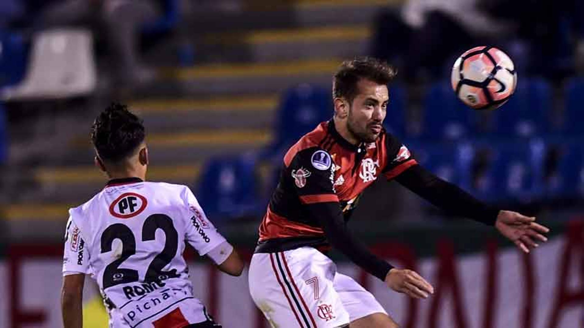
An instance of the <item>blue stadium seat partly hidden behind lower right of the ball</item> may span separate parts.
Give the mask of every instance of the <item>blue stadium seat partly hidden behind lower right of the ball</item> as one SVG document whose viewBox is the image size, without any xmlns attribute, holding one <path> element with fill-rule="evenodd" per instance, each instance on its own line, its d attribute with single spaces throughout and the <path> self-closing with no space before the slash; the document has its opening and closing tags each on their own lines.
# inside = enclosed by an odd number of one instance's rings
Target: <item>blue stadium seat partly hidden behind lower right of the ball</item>
<svg viewBox="0 0 584 328">
<path fill-rule="evenodd" d="M 551 130 L 551 127 L 547 127 L 551 111 L 549 83 L 543 79 L 520 79 L 515 94 L 493 111 L 496 122 L 493 132 L 498 137 L 529 138 L 541 135 Z"/>
</svg>

